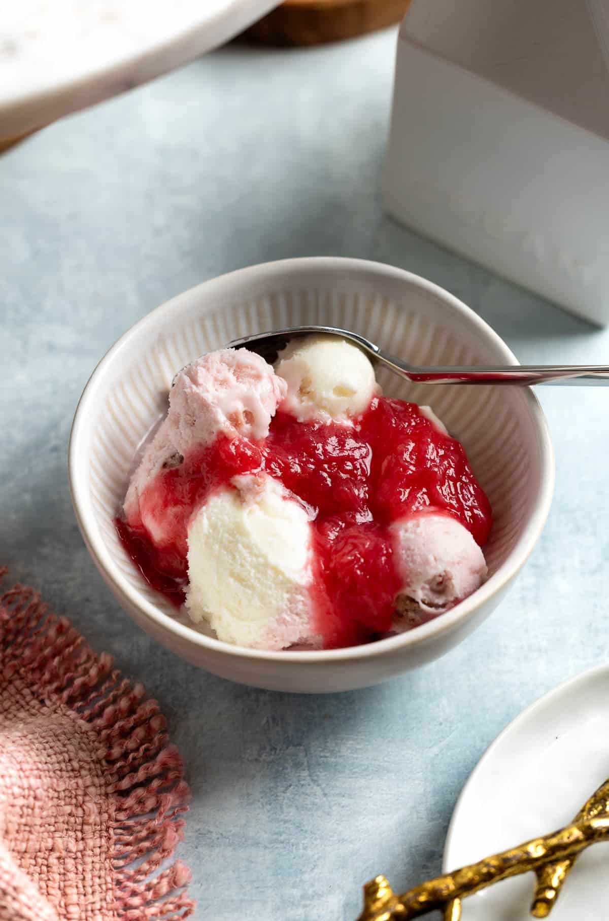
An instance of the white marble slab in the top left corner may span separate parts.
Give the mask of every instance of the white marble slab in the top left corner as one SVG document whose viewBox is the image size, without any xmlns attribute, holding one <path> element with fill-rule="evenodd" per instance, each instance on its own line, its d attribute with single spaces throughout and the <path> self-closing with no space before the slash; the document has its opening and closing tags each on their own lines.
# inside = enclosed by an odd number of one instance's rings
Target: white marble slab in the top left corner
<svg viewBox="0 0 609 921">
<path fill-rule="evenodd" d="M 131 89 L 279 0 L 15 0 L 0 14 L 0 139 Z"/>
</svg>

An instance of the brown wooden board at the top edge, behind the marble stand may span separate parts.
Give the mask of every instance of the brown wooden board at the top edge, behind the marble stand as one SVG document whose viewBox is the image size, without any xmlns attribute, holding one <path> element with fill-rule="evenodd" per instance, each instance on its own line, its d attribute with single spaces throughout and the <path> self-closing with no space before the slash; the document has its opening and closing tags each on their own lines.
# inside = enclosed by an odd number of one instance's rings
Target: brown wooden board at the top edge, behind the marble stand
<svg viewBox="0 0 609 921">
<path fill-rule="evenodd" d="M 269 45 L 352 39 L 400 22 L 410 0 L 286 0 L 245 32 Z"/>
</svg>

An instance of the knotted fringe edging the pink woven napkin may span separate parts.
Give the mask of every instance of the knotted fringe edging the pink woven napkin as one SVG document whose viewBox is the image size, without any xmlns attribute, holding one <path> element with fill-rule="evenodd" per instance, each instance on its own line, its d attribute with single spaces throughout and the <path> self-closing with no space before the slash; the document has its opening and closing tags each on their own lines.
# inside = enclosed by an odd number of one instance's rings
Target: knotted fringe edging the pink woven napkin
<svg viewBox="0 0 609 921">
<path fill-rule="evenodd" d="M 6 569 L 0 568 L 0 578 Z M 100 740 L 98 755 L 114 798 L 112 866 L 114 911 L 124 921 L 178 921 L 193 914 L 185 891 L 190 870 L 176 861 L 156 873 L 182 839 L 189 789 L 182 759 L 168 745 L 165 718 L 94 653 L 65 617 L 49 614 L 33 589 L 21 585 L 0 597 L 0 664 L 5 678 L 26 673 L 29 689 L 67 708 Z M 155 874 L 156 875 L 153 875 Z"/>
</svg>

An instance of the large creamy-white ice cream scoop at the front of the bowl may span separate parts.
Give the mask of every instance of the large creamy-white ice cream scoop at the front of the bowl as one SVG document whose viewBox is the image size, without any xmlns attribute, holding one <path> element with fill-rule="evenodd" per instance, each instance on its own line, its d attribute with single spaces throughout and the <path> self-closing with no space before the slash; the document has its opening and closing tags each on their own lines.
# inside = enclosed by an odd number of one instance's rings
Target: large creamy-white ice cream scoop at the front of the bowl
<svg viewBox="0 0 609 921">
<path fill-rule="evenodd" d="M 312 628 L 309 515 L 271 477 L 240 476 L 188 529 L 186 608 L 218 639 L 285 649 L 321 645 Z"/>
</svg>

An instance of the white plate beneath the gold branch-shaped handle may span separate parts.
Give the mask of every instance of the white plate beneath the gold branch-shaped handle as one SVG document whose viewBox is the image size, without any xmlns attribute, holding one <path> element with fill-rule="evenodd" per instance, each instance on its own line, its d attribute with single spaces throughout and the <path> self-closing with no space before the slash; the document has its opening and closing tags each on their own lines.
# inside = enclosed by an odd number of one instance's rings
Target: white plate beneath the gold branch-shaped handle
<svg viewBox="0 0 609 921">
<path fill-rule="evenodd" d="M 456 869 L 570 822 L 609 776 L 609 667 L 561 684 L 488 749 L 457 803 L 444 852 Z M 578 859 L 550 917 L 607 917 L 609 844 Z M 530 921 L 533 873 L 463 900 L 463 921 Z"/>
</svg>

